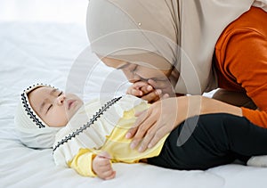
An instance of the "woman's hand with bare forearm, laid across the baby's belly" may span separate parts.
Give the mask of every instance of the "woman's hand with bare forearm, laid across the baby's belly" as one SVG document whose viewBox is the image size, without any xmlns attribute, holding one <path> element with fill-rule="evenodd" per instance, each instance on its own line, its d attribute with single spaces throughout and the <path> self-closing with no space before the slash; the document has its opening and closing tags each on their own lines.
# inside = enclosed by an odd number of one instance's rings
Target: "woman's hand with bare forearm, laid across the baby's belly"
<svg viewBox="0 0 267 188">
<path fill-rule="evenodd" d="M 139 113 L 134 126 L 125 137 L 133 138 L 132 149 L 139 145 L 138 151 L 145 151 L 156 145 L 182 121 L 193 116 L 211 113 L 230 113 L 242 116 L 242 110 L 239 107 L 204 96 L 186 95 L 167 98 L 153 103 L 148 110 Z"/>
</svg>

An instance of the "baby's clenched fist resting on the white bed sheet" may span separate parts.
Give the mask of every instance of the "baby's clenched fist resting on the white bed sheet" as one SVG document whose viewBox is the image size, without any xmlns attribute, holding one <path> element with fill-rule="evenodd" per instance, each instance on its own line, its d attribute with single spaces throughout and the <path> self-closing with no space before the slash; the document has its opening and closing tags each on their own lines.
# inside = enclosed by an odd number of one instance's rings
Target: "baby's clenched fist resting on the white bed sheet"
<svg viewBox="0 0 267 188">
<path fill-rule="evenodd" d="M 116 176 L 109 158 L 109 153 L 103 151 L 93 159 L 93 172 L 104 180 L 113 179 Z"/>
</svg>

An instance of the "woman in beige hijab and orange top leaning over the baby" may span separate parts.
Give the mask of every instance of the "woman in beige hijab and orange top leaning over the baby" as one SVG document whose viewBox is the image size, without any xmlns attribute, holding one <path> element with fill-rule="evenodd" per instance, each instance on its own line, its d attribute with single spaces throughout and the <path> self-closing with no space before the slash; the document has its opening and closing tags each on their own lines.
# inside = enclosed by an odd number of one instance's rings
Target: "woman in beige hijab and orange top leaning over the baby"
<svg viewBox="0 0 267 188">
<path fill-rule="evenodd" d="M 88 37 L 93 52 L 106 65 L 125 72 L 134 83 L 133 94 L 154 102 L 126 135 L 134 136 L 133 148 L 141 141 L 140 151 L 152 147 L 195 115 L 214 119 L 216 113 L 227 113 L 267 127 L 264 2 L 90 1 Z M 224 90 L 214 96 L 223 102 L 199 95 L 217 87 Z M 194 96 L 155 102 L 158 96 L 174 94 Z M 226 100 L 225 94 L 230 94 Z M 244 107 L 247 102 L 249 108 Z"/>
</svg>

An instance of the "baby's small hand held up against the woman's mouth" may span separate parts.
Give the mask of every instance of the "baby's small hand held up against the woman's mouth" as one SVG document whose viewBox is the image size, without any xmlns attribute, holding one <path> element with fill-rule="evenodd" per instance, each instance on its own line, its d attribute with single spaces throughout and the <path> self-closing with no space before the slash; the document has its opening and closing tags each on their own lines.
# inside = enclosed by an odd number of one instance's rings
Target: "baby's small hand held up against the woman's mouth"
<svg viewBox="0 0 267 188">
<path fill-rule="evenodd" d="M 147 82 L 139 81 L 135 82 L 127 89 L 126 94 L 132 94 L 137 97 L 141 97 L 148 102 L 157 102 L 160 99 L 162 91 L 160 89 L 154 89 Z"/>
</svg>

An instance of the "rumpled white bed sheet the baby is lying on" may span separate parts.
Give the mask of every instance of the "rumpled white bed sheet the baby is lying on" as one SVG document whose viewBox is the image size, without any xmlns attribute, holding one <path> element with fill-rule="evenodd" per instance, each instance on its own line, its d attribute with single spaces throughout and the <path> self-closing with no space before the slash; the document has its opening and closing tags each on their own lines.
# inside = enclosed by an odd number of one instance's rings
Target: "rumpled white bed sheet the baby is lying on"
<svg viewBox="0 0 267 188">
<path fill-rule="evenodd" d="M 20 91 L 37 82 L 62 89 L 67 82 L 69 89 L 69 78 L 75 78 L 71 88 L 87 100 L 99 93 L 123 93 L 125 78 L 90 53 L 85 27 L 80 25 L 2 22 L 0 41 L 0 187 L 267 187 L 267 168 L 238 164 L 180 171 L 117 163 L 117 177 L 109 181 L 55 167 L 52 150 L 28 149 L 15 135 Z M 83 51 L 88 53 L 80 55 Z M 69 74 L 77 64 L 83 66 L 79 71 L 86 73 L 85 79 L 77 79 L 77 71 Z"/>
</svg>

